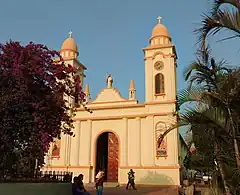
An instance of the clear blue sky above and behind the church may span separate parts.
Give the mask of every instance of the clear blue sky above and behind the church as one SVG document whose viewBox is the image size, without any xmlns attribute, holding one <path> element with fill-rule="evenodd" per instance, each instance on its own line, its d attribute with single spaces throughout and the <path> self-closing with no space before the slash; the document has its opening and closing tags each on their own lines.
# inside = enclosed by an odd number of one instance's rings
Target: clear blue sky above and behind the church
<svg viewBox="0 0 240 195">
<path fill-rule="evenodd" d="M 208 0 L 0 0 L 0 43 L 9 39 L 42 43 L 59 50 L 68 32 L 79 46 L 80 61 L 88 68 L 95 98 L 105 87 L 106 73 L 114 86 L 128 96 L 130 79 L 135 80 L 137 97 L 144 101 L 144 61 L 142 48 L 161 16 L 178 53 L 178 89 L 186 87 L 184 68 L 194 60 L 196 35 Z M 212 43 L 215 39 L 211 39 Z M 218 59 L 237 64 L 239 43 L 213 44 Z"/>
</svg>

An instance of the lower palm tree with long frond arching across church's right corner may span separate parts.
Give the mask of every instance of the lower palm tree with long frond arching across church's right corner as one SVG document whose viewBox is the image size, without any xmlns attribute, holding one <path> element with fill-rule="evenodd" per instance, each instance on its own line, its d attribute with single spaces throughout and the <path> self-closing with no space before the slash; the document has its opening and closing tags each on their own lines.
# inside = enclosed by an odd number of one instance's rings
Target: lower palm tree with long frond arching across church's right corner
<svg viewBox="0 0 240 195">
<path fill-rule="evenodd" d="M 231 157 L 234 156 L 232 139 L 229 139 L 231 137 L 229 136 L 229 122 L 226 120 L 227 116 L 224 109 L 215 107 L 205 93 L 205 89 L 195 87 L 191 90 L 184 90 L 179 94 L 181 106 L 189 102 L 196 104 L 180 113 L 178 124 L 173 124 L 163 134 L 163 137 L 173 129 L 189 125 L 191 126 L 190 131 L 198 132 L 199 134 L 202 132 L 202 134 L 205 133 L 211 137 L 214 146 L 213 160 L 216 161 L 217 169 L 221 174 L 226 194 L 230 194 L 230 189 L 227 185 L 228 175 L 224 170 L 224 162 L 229 162 L 229 159 L 232 159 Z M 203 144 L 203 152 L 207 155 L 206 148 L 209 147 L 209 143 L 202 140 L 200 144 Z M 209 157 L 210 155 L 207 156 Z"/>
</svg>

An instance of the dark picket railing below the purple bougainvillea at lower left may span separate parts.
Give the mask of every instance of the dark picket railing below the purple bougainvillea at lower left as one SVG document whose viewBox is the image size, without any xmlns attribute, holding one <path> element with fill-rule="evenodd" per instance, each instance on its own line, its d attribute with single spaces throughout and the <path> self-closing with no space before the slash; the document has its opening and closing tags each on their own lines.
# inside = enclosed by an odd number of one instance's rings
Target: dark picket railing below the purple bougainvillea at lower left
<svg viewBox="0 0 240 195">
<path fill-rule="evenodd" d="M 72 172 L 40 171 L 37 173 L 24 173 L 14 176 L 0 176 L 0 183 L 71 183 Z"/>
</svg>

